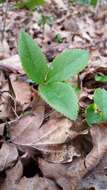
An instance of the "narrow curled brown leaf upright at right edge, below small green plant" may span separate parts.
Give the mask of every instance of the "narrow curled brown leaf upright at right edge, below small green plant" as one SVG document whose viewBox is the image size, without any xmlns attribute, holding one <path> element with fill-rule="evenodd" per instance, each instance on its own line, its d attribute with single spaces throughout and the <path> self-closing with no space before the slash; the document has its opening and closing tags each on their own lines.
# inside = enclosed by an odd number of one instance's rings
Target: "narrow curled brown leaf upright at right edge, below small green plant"
<svg viewBox="0 0 107 190">
<path fill-rule="evenodd" d="M 93 149 L 87 155 L 85 159 L 85 165 L 87 169 L 92 169 L 95 167 L 104 153 L 107 152 L 107 124 L 95 125 L 90 130 L 92 141 L 93 141 Z"/>
</svg>

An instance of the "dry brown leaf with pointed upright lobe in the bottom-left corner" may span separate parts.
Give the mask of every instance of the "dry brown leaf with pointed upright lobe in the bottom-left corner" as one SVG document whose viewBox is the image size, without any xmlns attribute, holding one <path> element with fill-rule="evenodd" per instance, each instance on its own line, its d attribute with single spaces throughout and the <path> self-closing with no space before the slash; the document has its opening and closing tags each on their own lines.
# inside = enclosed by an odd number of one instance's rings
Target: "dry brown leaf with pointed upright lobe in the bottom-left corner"
<svg viewBox="0 0 107 190">
<path fill-rule="evenodd" d="M 34 176 L 22 177 L 23 167 L 20 161 L 6 171 L 6 178 L 0 184 L 0 190 L 59 190 L 59 187 L 50 179 Z"/>
</svg>

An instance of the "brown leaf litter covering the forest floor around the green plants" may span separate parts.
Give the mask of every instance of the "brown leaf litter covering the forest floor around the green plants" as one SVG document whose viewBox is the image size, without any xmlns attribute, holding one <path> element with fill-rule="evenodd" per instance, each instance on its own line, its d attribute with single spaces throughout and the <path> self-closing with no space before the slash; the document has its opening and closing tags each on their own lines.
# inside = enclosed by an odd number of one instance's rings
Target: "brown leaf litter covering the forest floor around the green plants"
<svg viewBox="0 0 107 190">
<path fill-rule="evenodd" d="M 39 26 L 41 13 L 51 15 L 53 23 Z M 50 1 L 31 15 L 11 7 L 7 14 L 5 41 L 0 45 L 0 189 L 106 190 L 107 124 L 87 128 L 82 111 L 92 102 L 95 88 L 107 90 L 106 82 L 95 80 L 96 75 L 107 74 L 107 4 L 94 10 Z M 78 76 L 77 121 L 50 109 L 24 75 L 16 51 L 22 25 L 50 62 L 65 48 L 89 50 L 90 64 Z M 63 43 L 55 41 L 57 33 Z"/>
</svg>

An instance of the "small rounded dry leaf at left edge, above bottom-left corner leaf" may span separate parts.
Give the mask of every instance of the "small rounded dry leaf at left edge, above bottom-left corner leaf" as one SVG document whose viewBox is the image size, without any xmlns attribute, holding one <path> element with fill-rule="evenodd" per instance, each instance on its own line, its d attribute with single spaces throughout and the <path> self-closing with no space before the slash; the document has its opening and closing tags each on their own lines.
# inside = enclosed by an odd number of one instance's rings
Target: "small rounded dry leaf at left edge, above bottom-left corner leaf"
<svg viewBox="0 0 107 190">
<path fill-rule="evenodd" d="M 13 167 L 18 159 L 18 152 L 13 144 L 4 143 L 0 149 L 0 172 Z"/>
</svg>

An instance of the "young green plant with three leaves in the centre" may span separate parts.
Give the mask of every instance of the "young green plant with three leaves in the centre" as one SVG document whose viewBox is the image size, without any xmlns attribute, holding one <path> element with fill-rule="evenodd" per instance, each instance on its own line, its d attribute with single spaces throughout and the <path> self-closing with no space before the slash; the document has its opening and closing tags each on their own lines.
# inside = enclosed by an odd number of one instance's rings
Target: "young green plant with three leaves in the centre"
<svg viewBox="0 0 107 190">
<path fill-rule="evenodd" d="M 40 47 L 25 32 L 20 33 L 18 51 L 26 74 L 38 84 L 40 96 L 56 111 L 75 120 L 79 110 L 78 98 L 66 81 L 88 65 L 88 52 L 66 50 L 49 65 Z"/>
</svg>

